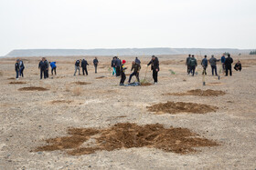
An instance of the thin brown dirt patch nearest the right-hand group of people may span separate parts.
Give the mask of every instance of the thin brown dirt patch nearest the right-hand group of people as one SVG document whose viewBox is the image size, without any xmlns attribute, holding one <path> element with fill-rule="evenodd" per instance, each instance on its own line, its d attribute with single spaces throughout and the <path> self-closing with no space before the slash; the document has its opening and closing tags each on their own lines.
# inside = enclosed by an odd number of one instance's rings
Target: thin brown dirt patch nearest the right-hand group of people
<svg viewBox="0 0 256 170">
<path fill-rule="evenodd" d="M 166 94 L 166 95 L 176 95 L 176 96 L 184 96 L 184 95 L 197 95 L 197 96 L 218 96 L 225 95 L 226 93 L 220 90 L 189 90 L 187 93 L 174 93 L 174 94 Z"/>
</svg>

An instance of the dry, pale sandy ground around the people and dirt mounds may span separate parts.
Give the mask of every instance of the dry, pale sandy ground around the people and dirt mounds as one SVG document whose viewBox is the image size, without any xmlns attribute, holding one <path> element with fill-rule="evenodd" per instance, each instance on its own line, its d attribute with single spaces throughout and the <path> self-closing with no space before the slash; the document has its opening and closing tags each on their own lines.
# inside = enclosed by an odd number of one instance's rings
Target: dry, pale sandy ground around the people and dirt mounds
<svg viewBox="0 0 256 170">
<path fill-rule="evenodd" d="M 75 60 L 80 57 L 48 57 L 56 61 L 58 75 L 39 80 L 39 58 L 25 58 L 25 77 L 17 82 L 14 58 L 0 59 L 0 169 L 255 169 L 256 168 L 256 57 L 240 56 L 241 72 L 232 77 L 211 76 L 202 85 L 201 66 L 195 77 L 186 74 L 183 55 L 160 56 L 159 84 L 119 86 L 112 77 L 112 57 L 99 57 L 98 74 L 89 66 L 89 75 L 73 76 Z M 86 57 L 91 64 L 92 57 Z M 131 68 L 133 57 L 122 57 Z M 149 56 L 141 57 L 145 76 Z M 199 58 L 200 59 L 200 58 Z M 238 56 L 234 57 L 237 61 Z M 220 66 L 218 65 L 218 68 Z M 169 71 L 172 69 L 176 75 Z M 127 74 L 130 72 L 127 72 Z M 152 81 L 152 72 L 147 80 Z M 100 79 L 97 77 L 104 76 Z M 128 77 L 127 77 L 128 78 Z M 134 77 L 133 77 L 134 79 Z M 79 85 L 74 82 L 87 82 Z M 127 80 L 126 80 L 127 82 Z M 47 91 L 20 91 L 37 86 Z M 220 90 L 226 95 L 170 95 L 188 90 Z M 166 95 L 169 94 L 169 95 Z M 218 107 L 216 112 L 197 114 L 154 113 L 148 106 L 186 102 Z M 69 127 L 108 128 L 117 123 L 161 124 L 184 127 L 217 142 L 218 146 L 199 147 L 197 152 L 176 154 L 154 147 L 121 148 L 96 151 L 89 155 L 68 155 L 65 151 L 37 151 L 45 140 L 67 136 Z"/>
</svg>

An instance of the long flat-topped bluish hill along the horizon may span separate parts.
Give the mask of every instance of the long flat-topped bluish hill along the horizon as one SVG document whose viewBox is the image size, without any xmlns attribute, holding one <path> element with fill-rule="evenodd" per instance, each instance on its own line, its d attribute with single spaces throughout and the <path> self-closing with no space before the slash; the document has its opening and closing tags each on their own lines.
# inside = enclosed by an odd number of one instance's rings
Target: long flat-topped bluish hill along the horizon
<svg viewBox="0 0 256 170">
<path fill-rule="evenodd" d="M 73 55 L 217 55 L 249 54 L 251 50 L 232 48 L 117 48 L 117 49 L 16 49 L 5 57 L 17 56 L 73 56 Z"/>
</svg>

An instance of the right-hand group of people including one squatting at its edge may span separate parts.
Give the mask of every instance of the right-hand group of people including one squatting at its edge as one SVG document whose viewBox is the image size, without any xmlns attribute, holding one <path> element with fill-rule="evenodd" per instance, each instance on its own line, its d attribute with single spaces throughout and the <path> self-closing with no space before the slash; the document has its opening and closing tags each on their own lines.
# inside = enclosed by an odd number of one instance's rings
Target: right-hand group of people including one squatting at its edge
<svg viewBox="0 0 256 170">
<path fill-rule="evenodd" d="M 217 73 L 217 62 L 221 61 L 222 65 L 222 70 L 223 72 L 226 73 L 225 76 L 232 76 L 232 63 L 233 59 L 231 56 L 228 54 L 228 57 L 223 54 L 220 59 L 217 59 L 214 55 L 211 55 L 211 58 L 208 60 L 208 56 L 205 55 L 204 59 L 202 59 L 201 65 L 203 67 L 203 73 L 202 75 L 207 75 L 207 68 L 208 68 L 208 63 L 211 66 L 211 74 L 212 75 L 218 75 Z M 194 76 L 195 75 L 195 70 L 197 67 L 197 59 L 195 58 L 194 55 L 188 55 L 187 60 L 186 60 L 186 65 L 187 65 L 187 75 Z M 235 65 L 235 70 L 241 70 L 241 64 L 240 61 Z"/>
</svg>

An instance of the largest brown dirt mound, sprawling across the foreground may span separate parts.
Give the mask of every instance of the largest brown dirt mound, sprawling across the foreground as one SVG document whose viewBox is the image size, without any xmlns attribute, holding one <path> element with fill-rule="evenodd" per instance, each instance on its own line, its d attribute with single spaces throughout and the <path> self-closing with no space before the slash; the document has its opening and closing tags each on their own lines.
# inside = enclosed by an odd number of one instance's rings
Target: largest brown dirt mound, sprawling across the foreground
<svg viewBox="0 0 256 170">
<path fill-rule="evenodd" d="M 69 136 L 46 140 L 48 145 L 37 147 L 36 152 L 66 150 L 69 155 L 88 155 L 100 150 L 155 147 L 165 152 L 187 154 L 195 152 L 195 147 L 218 145 L 214 141 L 199 137 L 187 128 L 165 128 L 159 124 L 123 123 L 106 129 L 72 128 L 68 133 Z M 94 144 L 81 146 L 89 139 L 95 141 Z"/>
</svg>

